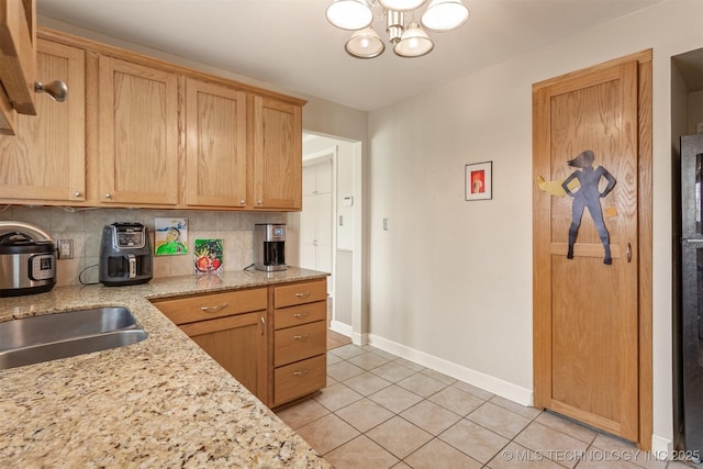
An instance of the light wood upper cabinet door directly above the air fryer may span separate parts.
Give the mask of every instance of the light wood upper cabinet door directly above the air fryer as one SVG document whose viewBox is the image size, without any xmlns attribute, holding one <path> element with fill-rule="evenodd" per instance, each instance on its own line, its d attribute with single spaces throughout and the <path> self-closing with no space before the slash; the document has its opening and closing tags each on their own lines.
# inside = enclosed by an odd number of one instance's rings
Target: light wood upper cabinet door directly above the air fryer
<svg viewBox="0 0 703 469">
<path fill-rule="evenodd" d="M 178 77 L 100 56 L 98 201 L 178 204 Z"/>
</svg>

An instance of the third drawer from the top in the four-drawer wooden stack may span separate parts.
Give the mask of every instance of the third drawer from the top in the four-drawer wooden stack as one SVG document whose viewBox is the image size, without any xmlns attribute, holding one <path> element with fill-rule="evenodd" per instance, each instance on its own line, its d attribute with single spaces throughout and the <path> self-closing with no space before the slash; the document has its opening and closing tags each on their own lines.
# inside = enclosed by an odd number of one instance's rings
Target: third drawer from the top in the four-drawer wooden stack
<svg viewBox="0 0 703 469">
<path fill-rule="evenodd" d="M 274 366 L 324 354 L 327 349 L 327 328 L 324 321 L 289 327 L 275 333 Z"/>
</svg>

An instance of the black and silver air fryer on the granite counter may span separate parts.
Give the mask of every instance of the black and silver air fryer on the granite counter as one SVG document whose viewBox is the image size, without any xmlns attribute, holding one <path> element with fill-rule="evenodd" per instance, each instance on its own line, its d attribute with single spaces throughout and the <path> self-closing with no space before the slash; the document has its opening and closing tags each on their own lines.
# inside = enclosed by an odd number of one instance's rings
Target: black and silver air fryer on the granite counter
<svg viewBox="0 0 703 469">
<path fill-rule="evenodd" d="M 99 280 L 108 287 L 152 280 L 152 242 L 141 223 L 112 223 L 102 228 Z"/>
</svg>

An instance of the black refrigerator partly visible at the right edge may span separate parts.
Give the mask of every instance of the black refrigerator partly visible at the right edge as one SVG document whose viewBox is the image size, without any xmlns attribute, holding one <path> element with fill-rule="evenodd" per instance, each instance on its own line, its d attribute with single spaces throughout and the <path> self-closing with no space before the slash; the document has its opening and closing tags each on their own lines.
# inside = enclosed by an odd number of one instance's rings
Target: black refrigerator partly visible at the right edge
<svg viewBox="0 0 703 469">
<path fill-rule="evenodd" d="M 683 438 L 703 454 L 703 134 L 681 137 L 680 317 L 678 339 Z M 696 458 L 696 459 L 698 459 Z"/>
</svg>

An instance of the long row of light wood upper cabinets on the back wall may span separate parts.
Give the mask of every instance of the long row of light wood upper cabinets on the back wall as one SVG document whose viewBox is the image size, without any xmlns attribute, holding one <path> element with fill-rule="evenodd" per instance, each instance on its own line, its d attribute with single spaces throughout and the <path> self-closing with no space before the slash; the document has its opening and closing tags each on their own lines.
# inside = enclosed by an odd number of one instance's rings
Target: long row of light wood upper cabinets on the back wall
<svg viewBox="0 0 703 469">
<path fill-rule="evenodd" d="M 0 203 L 302 209 L 304 100 L 58 31 L 36 34 L 35 75 L 51 81 L 48 94 L 34 98 L 37 116 L 10 109 L 18 136 L 0 136 Z M 66 102 L 51 98 L 58 80 Z M 10 103 L 2 93 L 0 110 Z"/>
</svg>

